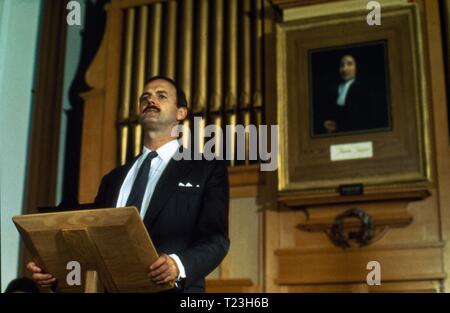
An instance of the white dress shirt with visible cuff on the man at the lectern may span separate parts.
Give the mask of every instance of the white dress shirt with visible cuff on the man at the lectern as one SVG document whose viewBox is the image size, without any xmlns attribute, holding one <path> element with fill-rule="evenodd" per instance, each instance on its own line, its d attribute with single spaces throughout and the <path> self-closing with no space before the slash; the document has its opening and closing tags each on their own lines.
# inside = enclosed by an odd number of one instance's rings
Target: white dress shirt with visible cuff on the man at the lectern
<svg viewBox="0 0 450 313">
<path fill-rule="evenodd" d="M 148 174 L 149 178 L 147 181 L 147 187 L 145 188 L 145 194 L 142 200 L 140 212 L 142 219 L 144 218 L 147 209 L 150 210 L 152 209 L 149 208 L 148 206 L 150 204 L 153 192 L 155 191 L 156 184 L 158 183 L 158 180 L 161 177 L 162 173 L 164 172 L 170 159 L 175 154 L 175 152 L 177 152 L 179 147 L 180 144 L 178 143 L 178 140 L 174 139 L 156 149 L 158 156 L 155 157 L 151 162 L 150 171 Z M 145 158 L 150 152 L 151 150 L 144 146 L 142 155 L 134 162 L 133 166 L 128 171 L 128 174 L 125 177 L 122 186 L 120 187 L 119 198 L 117 199 L 116 207 L 120 208 L 126 206 L 128 196 L 130 195 L 131 188 L 133 187 L 133 183 L 134 180 L 136 179 L 139 168 L 141 167 L 141 164 L 144 162 Z M 178 279 L 186 278 L 186 272 L 183 264 L 181 263 L 180 258 L 176 254 L 171 254 L 170 257 L 174 259 L 174 261 L 177 263 L 178 269 L 180 270 L 180 275 L 178 276 Z"/>
</svg>

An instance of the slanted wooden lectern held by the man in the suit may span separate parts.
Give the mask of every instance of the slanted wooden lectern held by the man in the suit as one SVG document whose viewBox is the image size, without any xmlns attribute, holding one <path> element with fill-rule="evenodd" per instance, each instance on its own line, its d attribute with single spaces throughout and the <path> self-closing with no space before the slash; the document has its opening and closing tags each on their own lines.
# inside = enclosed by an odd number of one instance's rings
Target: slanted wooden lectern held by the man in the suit
<svg viewBox="0 0 450 313">
<path fill-rule="evenodd" d="M 158 253 L 135 207 L 13 217 L 36 263 L 57 279 L 57 292 L 158 292 L 148 277 Z M 73 264 L 81 285 L 71 285 Z"/>
</svg>

